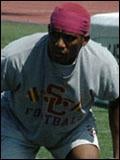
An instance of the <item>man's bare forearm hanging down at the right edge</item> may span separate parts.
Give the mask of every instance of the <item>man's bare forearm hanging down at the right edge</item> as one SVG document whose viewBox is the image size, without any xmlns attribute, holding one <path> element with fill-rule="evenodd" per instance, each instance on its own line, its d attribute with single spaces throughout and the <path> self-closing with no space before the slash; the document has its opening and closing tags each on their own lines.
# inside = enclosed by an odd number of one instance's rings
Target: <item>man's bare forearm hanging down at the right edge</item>
<svg viewBox="0 0 120 160">
<path fill-rule="evenodd" d="M 109 104 L 109 124 L 113 142 L 113 156 L 119 159 L 119 98 Z"/>
</svg>

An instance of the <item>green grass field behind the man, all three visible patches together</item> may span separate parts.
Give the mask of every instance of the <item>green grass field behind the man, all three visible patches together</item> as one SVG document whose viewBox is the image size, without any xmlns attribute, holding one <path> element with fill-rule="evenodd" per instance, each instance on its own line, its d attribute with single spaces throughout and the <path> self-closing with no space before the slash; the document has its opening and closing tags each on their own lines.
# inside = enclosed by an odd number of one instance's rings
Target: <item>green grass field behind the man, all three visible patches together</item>
<svg viewBox="0 0 120 160">
<path fill-rule="evenodd" d="M 22 36 L 29 35 L 35 32 L 46 32 L 46 25 L 22 24 L 22 23 L 1 23 L 1 47 L 3 48 L 9 42 L 18 39 Z M 101 147 L 101 159 L 112 157 L 112 143 L 111 135 L 108 125 L 107 109 L 93 107 L 96 116 L 96 123 L 98 128 L 98 139 Z M 40 149 L 37 154 L 40 159 L 52 159 L 50 152 L 44 147 Z"/>
</svg>

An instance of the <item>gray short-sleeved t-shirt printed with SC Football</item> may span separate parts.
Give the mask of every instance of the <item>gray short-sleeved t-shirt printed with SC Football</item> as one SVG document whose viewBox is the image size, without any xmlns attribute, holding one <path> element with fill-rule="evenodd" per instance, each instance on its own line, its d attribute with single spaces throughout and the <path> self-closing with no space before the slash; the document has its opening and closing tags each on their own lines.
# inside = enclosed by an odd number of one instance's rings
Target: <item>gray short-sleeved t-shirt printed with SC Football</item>
<svg viewBox="0 0 120 160">
<path fill-rule="evenodd" d="M 2 50 L 1 89 L 12 91 L 7 110 L 22 133 L 52 146 L 87 118 L 93 96 L 104 100 L 119 96 L 119 71 L 113 55 L 92 40 L 67 66 L 49 59 L 47 43 L 48 35 L 38 33 Z"/>
</svg>

